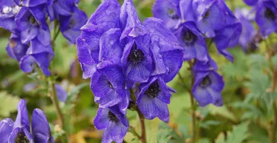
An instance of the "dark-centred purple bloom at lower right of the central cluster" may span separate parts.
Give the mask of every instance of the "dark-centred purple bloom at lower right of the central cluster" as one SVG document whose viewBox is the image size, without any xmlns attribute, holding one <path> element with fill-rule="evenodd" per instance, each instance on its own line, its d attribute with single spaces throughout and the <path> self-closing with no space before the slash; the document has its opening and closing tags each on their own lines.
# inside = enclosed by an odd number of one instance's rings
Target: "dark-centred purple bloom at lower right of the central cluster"
<svg viewBox="0 0 277 143">
<path fill-rule="evenodd" d="M 136 104 L 146 119 L 159 117 L 162 121 L 169 121 L 168 104 L 170 90 L 161 77 L 152 77 L 148 83 L 142 83 Z"/>
</svg>

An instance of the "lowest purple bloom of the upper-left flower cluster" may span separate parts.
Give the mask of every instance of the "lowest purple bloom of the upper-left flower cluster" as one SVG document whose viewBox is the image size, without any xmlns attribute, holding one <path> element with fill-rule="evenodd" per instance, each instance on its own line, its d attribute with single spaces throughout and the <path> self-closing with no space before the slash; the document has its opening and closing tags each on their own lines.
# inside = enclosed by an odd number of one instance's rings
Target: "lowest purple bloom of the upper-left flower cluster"
<svg viewBox="0 0 277 143">
<path fill-rule="evenodd" d="M 26 56 L 21 58 L 19 66 L 24 72 L 28 73 L 32 72 L 35 64 L 37 64 L 46 76 L 50 76 L 51 73 L 48 67 L 53 56 L 51 44 L 44 47 L 39 40 L 34 39 L 30 42 Z"/>
</svg>

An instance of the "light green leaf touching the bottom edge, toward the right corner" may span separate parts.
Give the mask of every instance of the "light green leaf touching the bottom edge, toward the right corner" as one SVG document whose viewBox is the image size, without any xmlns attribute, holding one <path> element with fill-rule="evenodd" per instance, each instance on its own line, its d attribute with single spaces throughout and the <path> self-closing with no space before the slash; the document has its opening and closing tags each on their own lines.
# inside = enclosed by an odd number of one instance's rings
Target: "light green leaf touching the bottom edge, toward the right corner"
<svg viewBox="0 0 277 143">
<path fill-rule="evenodd" d="M 238 126 L 235 126 L 233 131 L 227 135 L 227 139 L 225 141 L 217 143 L 242 143 L 248 137 L 248 125 L 248 122 L 244 122 Z"/>
</svg>

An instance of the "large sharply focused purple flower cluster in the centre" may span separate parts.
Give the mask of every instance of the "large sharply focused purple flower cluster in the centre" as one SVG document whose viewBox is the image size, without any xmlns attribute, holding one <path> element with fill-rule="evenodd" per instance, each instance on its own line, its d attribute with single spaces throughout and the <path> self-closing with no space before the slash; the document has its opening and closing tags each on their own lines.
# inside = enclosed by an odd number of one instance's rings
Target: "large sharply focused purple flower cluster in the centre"
<svg viewBox="0 0 277 143">
<path fill-rule="evenodd" d="M 99 103 L 94 125 L 104 129 L 102 142 L 123 142 L 129 126 L 125 114 L 134 103 L 146 119 L 168 122 L 174 90 L 166 83 L 179 72 L 183 49 L 163 22 L 141 23 L 132 0 L 121 7 L 117 0 L 105 0 L 81 30 L 78 60 Z"/>
</svg>

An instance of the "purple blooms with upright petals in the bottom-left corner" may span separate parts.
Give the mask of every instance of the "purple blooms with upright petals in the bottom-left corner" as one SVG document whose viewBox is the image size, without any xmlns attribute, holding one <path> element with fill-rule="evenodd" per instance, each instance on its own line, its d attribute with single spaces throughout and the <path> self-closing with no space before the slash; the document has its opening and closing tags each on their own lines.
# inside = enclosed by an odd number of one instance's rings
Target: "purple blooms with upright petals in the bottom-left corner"
<svg viewBox="0 0 277 143">
<path fill-rule="evenodd" d="M 17 106 L 17 119 L 12 121 L 10 118 L 0 121 L 0 139 L 2 143 L 8 142 L 30 142 L 53 143 L 48 121 L 44 112 L 35 109 L 32 115 L 32 132 L 30 131 L 28 110 L 26 109 L 26 101 L 21 99 Z"/>
</svg>

